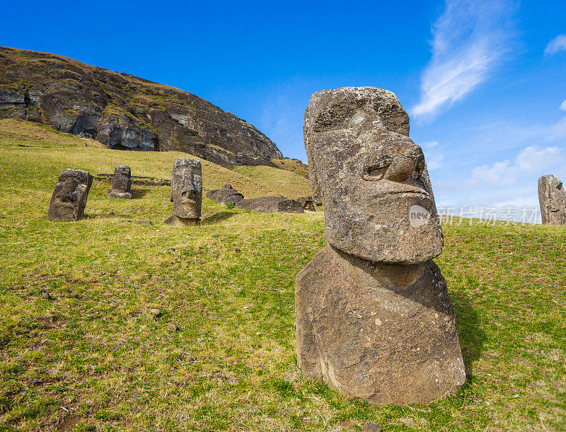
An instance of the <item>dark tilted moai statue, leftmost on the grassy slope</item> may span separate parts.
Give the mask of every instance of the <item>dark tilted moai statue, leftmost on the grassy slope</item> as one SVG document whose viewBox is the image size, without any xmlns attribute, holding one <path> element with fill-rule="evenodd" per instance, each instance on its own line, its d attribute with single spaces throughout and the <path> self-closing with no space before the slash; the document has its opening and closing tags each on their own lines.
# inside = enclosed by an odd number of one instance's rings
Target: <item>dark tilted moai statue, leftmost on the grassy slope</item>
<svg viewBox="0 0 566 432">
<path fill-rule="evenodd" d="M 55 186 L 47 218 L 50 221 L 74 222 L 84 217 L 88 191 L 93 176 L 82 170 L 64 170 Z"/>
</svg>

